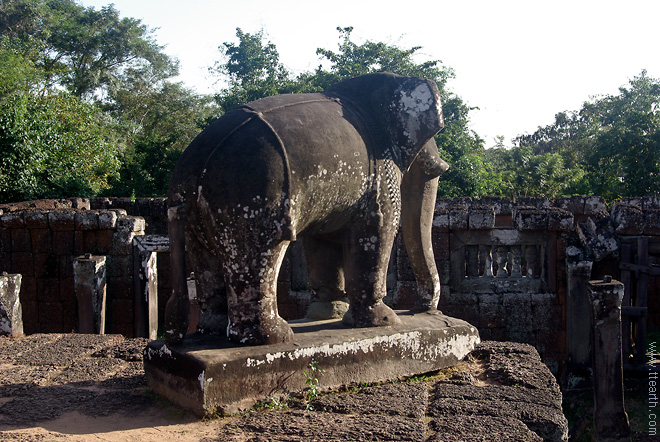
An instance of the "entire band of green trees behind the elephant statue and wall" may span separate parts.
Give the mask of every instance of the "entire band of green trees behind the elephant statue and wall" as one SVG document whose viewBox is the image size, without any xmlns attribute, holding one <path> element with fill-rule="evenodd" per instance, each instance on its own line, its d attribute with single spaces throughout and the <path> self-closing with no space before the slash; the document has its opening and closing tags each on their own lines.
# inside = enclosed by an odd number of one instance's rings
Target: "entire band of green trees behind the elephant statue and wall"
<svg viewBox="0 0 660 442">
<path fill-rule="evenodd" d="M 444 197 L 660 195 L 660 82 L 642 72 L 618 95 L 596 97 L 555 122 L 484 149 L 470 108 L 448 90 L 453 71 L 417 61 L 420 47 L 358 44 L 337 28 L 335 50 L 293 75 L 263 32 L 237 29 L 210 71 L 226 85 L 202 96 L 171 79 L 177 61 L 140 20 L 75 0 L 0 0 L 0 202 L 46 197 L 164 195 L 188 143 L 213 118 L 248 101 L 318 92 L 389 71 L 437 82 L 450 164 Z"/>
</svg>

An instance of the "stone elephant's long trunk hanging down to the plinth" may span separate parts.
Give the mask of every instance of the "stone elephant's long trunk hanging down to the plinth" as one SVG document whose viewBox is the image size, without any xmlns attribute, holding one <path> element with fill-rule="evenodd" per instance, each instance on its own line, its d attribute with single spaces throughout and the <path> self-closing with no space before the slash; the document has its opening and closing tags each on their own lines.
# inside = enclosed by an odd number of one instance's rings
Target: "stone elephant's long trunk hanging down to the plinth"
<svg viewBox="0 0 660 442">
<path fill-rule="evenodd" d="M 417 279 L 417 311 L 435 310 L 440 300 L 440 278 L 433 256 L 431 228 L 439 176 L 448 168 L 431 139 L 401 183 L 401 232 Z"/>
</svg>

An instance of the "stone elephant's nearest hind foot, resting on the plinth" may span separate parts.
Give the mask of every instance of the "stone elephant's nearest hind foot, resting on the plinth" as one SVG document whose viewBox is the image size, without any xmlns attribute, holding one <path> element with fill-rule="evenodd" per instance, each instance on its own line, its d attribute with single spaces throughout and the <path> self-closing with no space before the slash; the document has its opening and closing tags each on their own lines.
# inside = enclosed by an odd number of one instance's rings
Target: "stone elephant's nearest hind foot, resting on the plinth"
<svg viewBox="0 0 660 442">
<path fill-rule="evenodd" d="M 281 317 L 258 322 L 234 323 L 227 327 L 227 339 L 237 344 L 267 345 L 293 341 L 291 326 Z"/>
</svg>

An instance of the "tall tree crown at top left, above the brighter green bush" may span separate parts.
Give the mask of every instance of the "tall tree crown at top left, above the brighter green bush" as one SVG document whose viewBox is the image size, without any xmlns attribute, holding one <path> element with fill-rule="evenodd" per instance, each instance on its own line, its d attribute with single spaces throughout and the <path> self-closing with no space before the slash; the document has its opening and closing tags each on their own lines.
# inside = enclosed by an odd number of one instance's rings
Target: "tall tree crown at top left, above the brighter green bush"
<svg viewBox="0 0 660 442">
<path fill-rule="evenodd" d="M 161 79 L 177 64 L 162 52 L 140 20 L 119 17 L 114 7 L 100 11 L 74 0 L 11 0 L 0 3 L 0 34 L 43 45 L 33 60 L 46 87 L 64 87 L 91 98 L 121 77 L 127 67 L 150 66 Z"/>
</svg>

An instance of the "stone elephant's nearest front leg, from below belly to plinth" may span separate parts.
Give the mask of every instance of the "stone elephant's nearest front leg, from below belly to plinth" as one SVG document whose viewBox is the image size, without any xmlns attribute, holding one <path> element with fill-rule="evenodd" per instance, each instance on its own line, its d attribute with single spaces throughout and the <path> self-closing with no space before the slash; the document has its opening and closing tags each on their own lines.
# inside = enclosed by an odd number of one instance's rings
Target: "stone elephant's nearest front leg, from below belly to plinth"
<svg viewBox="0 0 660 442">
<path fill-rule="evenodd" d="M 353 327 L 396 325 L 396 313 L 383 303 L 387 294 L 387 265 L 395 229 L 362 226 L 351 229 L 344 244 L 344 274 L 350 302 L 343 322 Z"/>
</svg>

